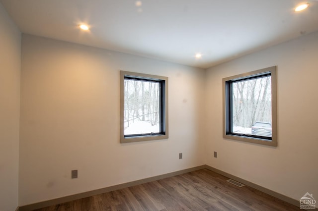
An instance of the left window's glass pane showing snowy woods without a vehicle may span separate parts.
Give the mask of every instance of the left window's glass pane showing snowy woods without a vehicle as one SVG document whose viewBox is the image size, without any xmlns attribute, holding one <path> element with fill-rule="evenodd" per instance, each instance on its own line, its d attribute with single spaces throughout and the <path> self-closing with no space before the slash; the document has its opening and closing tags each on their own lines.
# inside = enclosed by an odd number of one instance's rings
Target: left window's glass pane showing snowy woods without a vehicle
<svg viewBox="0 0 318 211">
<path fill-rule="evenodd" d="M 124 80 L 124 135 L 160 131 L 160 83 Z"/>
</svg>

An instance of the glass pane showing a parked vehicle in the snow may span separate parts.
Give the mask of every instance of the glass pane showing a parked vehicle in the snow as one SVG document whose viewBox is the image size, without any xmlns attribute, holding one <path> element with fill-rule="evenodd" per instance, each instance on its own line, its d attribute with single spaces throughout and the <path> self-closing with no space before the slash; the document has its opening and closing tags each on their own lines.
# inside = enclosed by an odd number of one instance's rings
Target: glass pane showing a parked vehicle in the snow
<svg viewBox="0 0 318 211">
<path fill-rule="evenodd" d="M 232 82 L 231 132 L 272 137 L 271 76 Z"/>
</svg>

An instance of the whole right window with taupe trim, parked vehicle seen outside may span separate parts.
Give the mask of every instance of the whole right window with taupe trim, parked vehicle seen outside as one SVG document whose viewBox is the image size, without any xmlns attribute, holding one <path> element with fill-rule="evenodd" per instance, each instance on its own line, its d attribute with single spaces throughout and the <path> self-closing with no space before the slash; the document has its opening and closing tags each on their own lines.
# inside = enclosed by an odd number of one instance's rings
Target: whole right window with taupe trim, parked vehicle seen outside
<svg viewBox="0 0 318 211">
<path fill-rule="evenodd" d="M 277 146 L 276 66 L 223 79 L 223 137 Z"/>
</svg>

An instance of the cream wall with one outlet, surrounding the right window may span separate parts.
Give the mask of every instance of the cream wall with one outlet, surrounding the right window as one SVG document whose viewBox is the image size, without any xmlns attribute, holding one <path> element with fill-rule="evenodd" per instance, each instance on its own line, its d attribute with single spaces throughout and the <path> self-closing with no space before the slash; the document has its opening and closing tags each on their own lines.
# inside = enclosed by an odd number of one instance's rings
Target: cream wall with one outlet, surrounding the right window
<svg viewBox="0 0 318 211">
<path fill-rule="evenodd" d="M 277 65 L 278 147 L 222 137 L 222 78 Z M 207 70 L 207 164 L 299 200 L 318 198 L 318 32 Z M 213 158 L 213 152 L 218 158 Z"/>
</svg>

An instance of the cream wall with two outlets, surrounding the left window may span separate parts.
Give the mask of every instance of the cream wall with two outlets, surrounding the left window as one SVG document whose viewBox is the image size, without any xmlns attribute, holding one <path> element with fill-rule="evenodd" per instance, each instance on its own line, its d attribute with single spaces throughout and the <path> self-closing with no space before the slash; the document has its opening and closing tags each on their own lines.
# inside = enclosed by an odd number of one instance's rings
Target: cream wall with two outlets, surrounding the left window
<svg viewBox="0 0 318 211">
<path fill-rule="evenodd" d="M 119 143 L 120 70 L 169 78 L 169 139 Z M 204 77 L 198 68 L 23 35 L 19 205 L 204 164 Z"/>
</svg>

